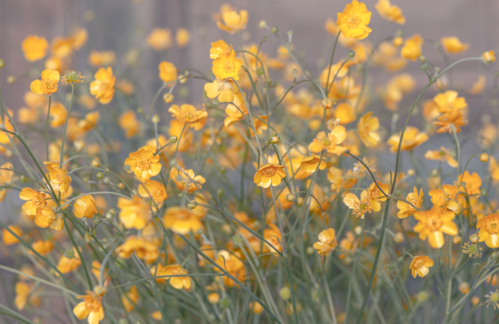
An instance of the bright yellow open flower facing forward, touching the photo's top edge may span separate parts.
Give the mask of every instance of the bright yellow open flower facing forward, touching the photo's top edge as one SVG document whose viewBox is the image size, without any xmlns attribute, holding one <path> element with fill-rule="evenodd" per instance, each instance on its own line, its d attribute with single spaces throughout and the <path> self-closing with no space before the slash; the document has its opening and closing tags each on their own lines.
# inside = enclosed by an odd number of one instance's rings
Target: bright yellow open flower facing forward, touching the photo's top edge
<svg viewBox="0 0 499 324">
<path fill-rule="evenodd" d="M 363 2 L 352 0 L 347 3 L 343 12 L 338 12 L 336 24 L 345 37 L 364 39 L 372 31 L 367 26 L 371 21 L 371 11 Z"/>
</svg>

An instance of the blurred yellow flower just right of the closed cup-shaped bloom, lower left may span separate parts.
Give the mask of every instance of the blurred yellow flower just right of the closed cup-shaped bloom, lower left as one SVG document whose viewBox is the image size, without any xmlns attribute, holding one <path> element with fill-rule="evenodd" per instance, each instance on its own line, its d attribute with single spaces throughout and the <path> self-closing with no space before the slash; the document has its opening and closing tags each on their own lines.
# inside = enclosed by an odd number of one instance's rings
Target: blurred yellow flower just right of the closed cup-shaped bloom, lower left
<svg viewBox="0 0 499 324">
<path fill-rule="evenodd" d="M 118 208 L 120 209 L 120 222 L 126 229 L 140 230 L 151 219 L 149 204 L 139 196 L 133 196 L 132 199 L 119 197 Z"/>
</svg>

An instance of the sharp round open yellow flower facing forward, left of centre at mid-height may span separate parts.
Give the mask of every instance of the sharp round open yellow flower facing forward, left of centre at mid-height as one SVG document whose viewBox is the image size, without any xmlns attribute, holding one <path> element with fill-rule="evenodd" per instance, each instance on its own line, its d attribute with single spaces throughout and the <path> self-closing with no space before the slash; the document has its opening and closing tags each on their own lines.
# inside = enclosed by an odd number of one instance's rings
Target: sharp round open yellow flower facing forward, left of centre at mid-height
<svg viewBox="0 0 499 324">
<path fill-rule="evenodd" d="M 159 155 L 154 155 L 153 151 L 143 148 L 130 153 L 125 160 L 126 165 L 130 167 L 127 172 L 133 172 L 140 181 L 149 180 L 161 171 Z"/>
</svg>

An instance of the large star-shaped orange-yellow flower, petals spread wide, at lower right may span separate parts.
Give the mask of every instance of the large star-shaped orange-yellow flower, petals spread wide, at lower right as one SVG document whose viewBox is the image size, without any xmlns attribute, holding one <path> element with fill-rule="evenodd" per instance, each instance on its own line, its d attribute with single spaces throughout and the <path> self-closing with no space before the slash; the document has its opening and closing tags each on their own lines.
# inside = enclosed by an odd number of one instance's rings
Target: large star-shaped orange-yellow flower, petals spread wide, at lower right
<svg viewBox="0 0 499 324">
<path fill-rule="evenodd" d="M 444 246 L 444 234 L 457 235 L 458 227 L 452 221 L 456 217 L 453 211 L 433 206 L 428 211 L 414 213 L 414 218 L 419 223 L 414 231 L 419 233 L 420 240 L 426 240 L 432 248 L 440 249 Z"/>
</svg>

